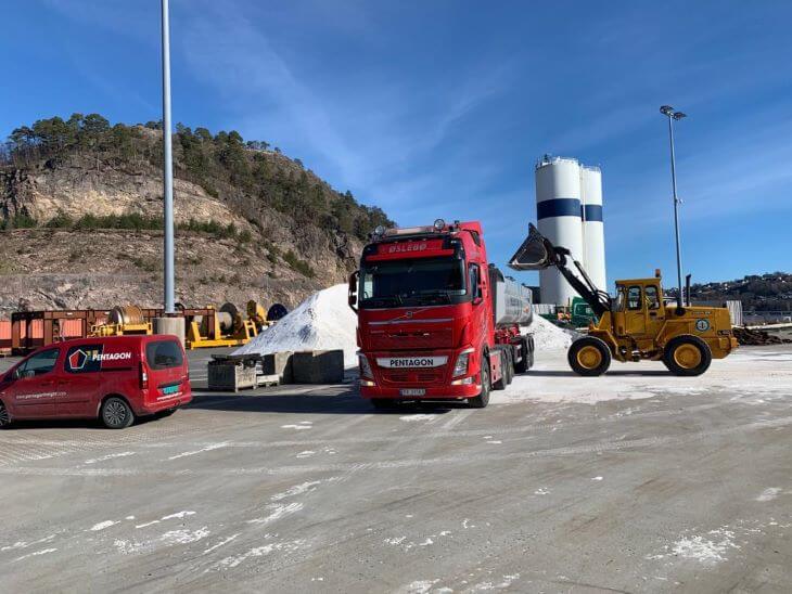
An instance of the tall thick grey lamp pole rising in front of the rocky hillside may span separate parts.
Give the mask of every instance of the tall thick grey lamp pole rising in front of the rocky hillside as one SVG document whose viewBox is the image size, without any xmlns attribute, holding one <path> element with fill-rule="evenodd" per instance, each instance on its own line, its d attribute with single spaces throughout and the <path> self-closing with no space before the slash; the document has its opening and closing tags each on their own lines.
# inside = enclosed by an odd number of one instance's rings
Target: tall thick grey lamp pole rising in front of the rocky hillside
<svg viewBox="0 0 792 594">
<path fill-rule="evenodd" d="M 165 313 L 175 313 L 174 298 L 174 160 L 170 138 L 170 22 L 168 0 L 162 0 L 163 10 L 163 198 L 165 223 Z"/>
</svg>

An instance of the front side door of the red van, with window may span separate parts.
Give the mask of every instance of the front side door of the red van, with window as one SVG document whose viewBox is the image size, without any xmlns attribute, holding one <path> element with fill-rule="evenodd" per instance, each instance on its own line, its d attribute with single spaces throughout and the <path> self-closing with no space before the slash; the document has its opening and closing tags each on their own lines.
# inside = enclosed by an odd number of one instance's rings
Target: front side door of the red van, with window
<svg viewBox="0 0 792 594">
<path fill-rule="evenodd" d="M 54 416 L 55 397 L 60 389 L 56 373 L 60 356 L 60 348 L 50 348 L 33 354 L 16 367 L 5 389 L 13 416 Z"/>
</svg>

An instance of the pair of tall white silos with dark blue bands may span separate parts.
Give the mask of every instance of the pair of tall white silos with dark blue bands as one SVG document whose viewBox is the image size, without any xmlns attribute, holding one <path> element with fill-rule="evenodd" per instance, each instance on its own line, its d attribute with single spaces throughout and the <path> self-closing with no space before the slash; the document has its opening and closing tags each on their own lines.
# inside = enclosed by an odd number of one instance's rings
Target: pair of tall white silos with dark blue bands
<svg viewBox="0 0 792 594">
<path fill-rule="evenodd" d="M 597 288 L 608 290 L 599 167 L 545 155 L 536 165 L 536 220 L 539 233 L 569 249 Z M 539 284 L 544 304 L 569 306 L 577 296 L 552 267 L 539 272 Z"/>
</svg>

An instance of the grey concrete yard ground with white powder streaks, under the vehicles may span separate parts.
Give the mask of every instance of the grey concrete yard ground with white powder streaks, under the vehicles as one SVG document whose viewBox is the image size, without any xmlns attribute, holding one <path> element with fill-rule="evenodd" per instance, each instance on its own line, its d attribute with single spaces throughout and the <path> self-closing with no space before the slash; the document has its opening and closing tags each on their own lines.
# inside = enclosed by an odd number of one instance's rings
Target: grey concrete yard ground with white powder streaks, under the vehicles
<svg viewBox="0 0 792 594">
<path fill-rule="evenodd" d="M 285 386 L 2 431 L 0 591 L 792 591 L 792 348 L 693 379 L 542 353 L 495 397 Z"/>
</svg>

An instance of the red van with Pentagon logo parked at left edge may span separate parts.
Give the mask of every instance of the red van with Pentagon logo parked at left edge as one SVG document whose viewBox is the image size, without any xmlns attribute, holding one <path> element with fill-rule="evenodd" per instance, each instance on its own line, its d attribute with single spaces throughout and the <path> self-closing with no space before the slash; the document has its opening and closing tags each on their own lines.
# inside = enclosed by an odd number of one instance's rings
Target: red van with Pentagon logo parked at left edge
<svg viewBox="0 0 792 594">
<path fill-rule="evenodd" d="M 123 429 L 136 416 L 192 400 L 176 336 L 79 338 L 43 347 L 0 376 L 0 427 L 23 418 L 101 418 Z"/>
</svg>

